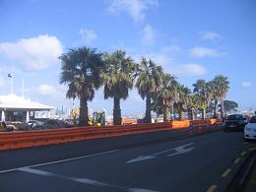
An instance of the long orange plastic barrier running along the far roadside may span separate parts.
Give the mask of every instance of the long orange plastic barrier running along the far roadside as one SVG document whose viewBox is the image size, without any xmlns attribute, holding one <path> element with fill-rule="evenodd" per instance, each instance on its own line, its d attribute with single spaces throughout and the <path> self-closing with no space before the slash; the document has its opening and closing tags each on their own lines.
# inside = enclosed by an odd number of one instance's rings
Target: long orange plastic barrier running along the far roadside
<svg viewBox="0 0 256 192">
<path fill-rule="evenodd" d="M 74 127 L 51 130 L 22 131 L 0 133 L 0 150 L 29 148 L 61 144 L 96 138 L 117 137 L 130 134 L 154 132 L 160 130 L 180 129 L 189 125 L 215 124 L 216 119 L 210 120 L 184 120 L 163 123 L 143 123 L 114 126 Z"/>
</svg>

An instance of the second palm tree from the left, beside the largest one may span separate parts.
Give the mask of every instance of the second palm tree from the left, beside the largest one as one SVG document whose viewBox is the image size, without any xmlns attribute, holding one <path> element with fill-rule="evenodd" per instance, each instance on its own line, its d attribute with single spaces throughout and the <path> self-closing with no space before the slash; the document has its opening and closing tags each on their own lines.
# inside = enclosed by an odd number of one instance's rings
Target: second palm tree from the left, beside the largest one
<svg viewBox="0 0 256 192">
<path fill-rule="evenodd" d="M 113 122 L 122 123 L 120 99 L 126 99 L 129 90 L 133 88 L 136 65 L 126 52 L 116 50 L 112 54 L 104 54 L 105 69 L 102 74 L 104 85 L 104 98 L 113 97 Z"/>
</svg>

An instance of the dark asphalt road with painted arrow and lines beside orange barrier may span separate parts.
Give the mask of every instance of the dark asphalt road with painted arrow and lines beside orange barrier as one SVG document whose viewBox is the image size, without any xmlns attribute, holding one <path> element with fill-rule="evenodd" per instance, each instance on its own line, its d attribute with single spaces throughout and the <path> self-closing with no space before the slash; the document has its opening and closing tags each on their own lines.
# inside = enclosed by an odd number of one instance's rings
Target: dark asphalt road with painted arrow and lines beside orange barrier
<svg viewBox="0 0 256 192">
<path fill-rule="evenodd" d="M 98 142 L 100 144 L 102 141 Z M 83 145 L 86 146 L 85 143 Z M 64 147 L 59 149 L 65 150 Z M 224 191 L 246 158 L 248 150 L 255 147 L 255 143 L 244 142 L 243 133 L 220 131 L 176 141 L 165 138 L 164 142 L 98 151 L 80 157 L 70 156 L 65 160 L 56 158 L 53 161 L 38 161 L 38 158 L 37 164 L 34 159 L 27 160 L 31 164 L 24 161 L 9 167 L 6 160 L 10 157 L 19 153 L 21 159 L 26 160 L 22 157 L 30 156 L 29 152 L 37 152 L 40 148 L 0 153 L 1 163 L 5 164 L 0 170 L 0 190 Z M 48 148 L 50 153 L 55 149 L 54 157 L 58 157 L 58 154 L 63 157 L 63 151 L 57 151 L 57 147 Z M 106 146 L 101 148 L 107 149 Z M 42 149 L 43 152 L 47 150 Z M 19 157 L 16 158 L 19 161 Z"/>
</svg>

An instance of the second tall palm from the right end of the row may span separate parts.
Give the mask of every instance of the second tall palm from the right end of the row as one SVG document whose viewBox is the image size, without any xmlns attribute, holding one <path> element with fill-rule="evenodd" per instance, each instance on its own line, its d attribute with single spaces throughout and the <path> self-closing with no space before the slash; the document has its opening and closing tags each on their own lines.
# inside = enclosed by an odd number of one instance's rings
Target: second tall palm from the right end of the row
<svg viewBox="0 0 256 192">
<path fill-rule="evenodd" d="M 197 98 L 197 104 L 201 106 L 202 109 L 202 119 L 205 119 L 206 110 L 205 107 L 208 106 L 208 103 L 211 98 L 210 85 L 205 80 L 197 80 L 194 87 L 194 96 Z M 205 106 L 205 107 L 203 107 Z"/>
</svg>

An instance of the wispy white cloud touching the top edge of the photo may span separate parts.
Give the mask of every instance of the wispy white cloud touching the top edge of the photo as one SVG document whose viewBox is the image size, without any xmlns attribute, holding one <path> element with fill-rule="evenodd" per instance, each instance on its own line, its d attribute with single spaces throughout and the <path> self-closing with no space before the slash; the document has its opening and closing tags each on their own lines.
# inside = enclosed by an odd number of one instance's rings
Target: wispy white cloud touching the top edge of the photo
<svg viewBox="0 0 256 192">
<path fill-rule="evenodd" d="M 158 7 L 158 0 L 110 0 L 107 11 L 111 14 L 128 13 L 135 22 L 142 22 L 145 11 L 150 7 Z"/>
</svg>

